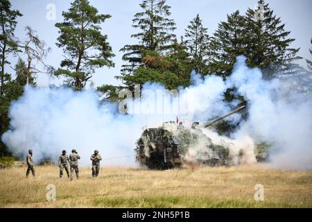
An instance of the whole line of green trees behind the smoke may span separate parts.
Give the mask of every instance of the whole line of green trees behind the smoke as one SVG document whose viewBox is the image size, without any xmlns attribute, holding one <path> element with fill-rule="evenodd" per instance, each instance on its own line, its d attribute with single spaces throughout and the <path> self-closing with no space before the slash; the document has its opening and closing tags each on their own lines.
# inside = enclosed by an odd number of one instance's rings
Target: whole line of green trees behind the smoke
<svg viewBox="0 0 312 222">
<path fill-rule="evenodd" d="M 295 65 L 296 60 L 302 59 L 297 56 L 300 49 L 291 47 L 295 40 L 263 0 L 258 1 L 257 9 L 248 8 L 244 13 L 236 10 L 227 15 L 212 35 L 208 34 L 200 15 L 196 15 L 181 37 L 175 35 L 175 21 L 166 0 L 143 0 L 139 6 L 140 11 L 132 19 L 132 26 L 138 32 L 131 35 L 137 44 L 126 44 L 120 49 L 124 65 L 116 78 L 123 84 L 97 87 L 108 101 L 117 101 L 119 90 L 133 90 L 135 84 L 156 82 L 168 89 L 187 87 L 191 84 L 192 71 L 203 78 L 216 74 L 226 79 L 236 56 L 240 55 L 247 58 L 249 67 L 261 68 L 266 78 L 290 75 L 302 69 Z M 73 1 L 62 12 L 63 21 L 55 24 L 59 33 L 55 44 L 62 49 L 64 58 L 58 68 L 46 64 L 50 48 L 30 26 L 25 28 L 26 40 L 15 37 L 17 19 L 21 16 L 19 10 L 11 8 L 10 1 L 0 0 L 0 135 L 9 127 L 10 102 L 21 96 L 26 84 L 36 85 L 35 74 L 64 76 L 64 85 L 81 90 L 96 69 L 114 67 L 112 47 L 101 30 L 101 24 L 111 15 L 99 13 L 89 1 Z M 8 60 L 10 55 L 19 58 L 12 67 L 15 75 L 6 70 L 12 65 Z M 312 70 L 312 62 L 306 62 Z M 44 70 L 38 69 L 38 64 Z M 234 99 L 233 91 L 228 89 L 225 100 Z M 0 142 L 0 155 L 6 154 L 6 146 Z"/>
</svg>

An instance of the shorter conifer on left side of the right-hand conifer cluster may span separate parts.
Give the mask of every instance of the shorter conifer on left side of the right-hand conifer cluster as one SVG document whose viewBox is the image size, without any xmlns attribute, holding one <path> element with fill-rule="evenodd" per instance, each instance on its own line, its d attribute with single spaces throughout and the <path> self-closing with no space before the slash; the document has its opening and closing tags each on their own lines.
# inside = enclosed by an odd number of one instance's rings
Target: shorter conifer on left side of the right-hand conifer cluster
<svg viewBox="0 0 312 222">
<path fill-rule="evenodd" d="M 236 56 L 245 55 L 244 17 L 236 10 L 227 15 L 226 22 L 220 22 L 211 37 L 211 62 L 209 72 L 219 76 L 229 76 Z"/>
</svg>

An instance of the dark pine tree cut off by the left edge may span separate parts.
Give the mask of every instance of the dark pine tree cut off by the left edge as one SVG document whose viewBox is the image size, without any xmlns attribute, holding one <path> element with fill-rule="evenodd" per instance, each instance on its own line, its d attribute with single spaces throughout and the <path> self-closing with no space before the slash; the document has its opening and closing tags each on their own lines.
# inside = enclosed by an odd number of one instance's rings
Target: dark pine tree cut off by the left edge
<svg viewBox="0 0 312 222">
<path fill-rule="evenodd" d="M 8 125 L 8 105 L 10 104 L 10 75 L 6 73 L 5 66 L 10 64 L 7 56 L 10 53 L 17 53 L 18 45 L 14 31 L 17 25 L 17 18 L 21 17 L 19 10 L 12 10 L 8 0 L 0 0 L 0 137 Z M 5 153 L 5 145 L 0 139 L 0 154 Z"/>
</svg>

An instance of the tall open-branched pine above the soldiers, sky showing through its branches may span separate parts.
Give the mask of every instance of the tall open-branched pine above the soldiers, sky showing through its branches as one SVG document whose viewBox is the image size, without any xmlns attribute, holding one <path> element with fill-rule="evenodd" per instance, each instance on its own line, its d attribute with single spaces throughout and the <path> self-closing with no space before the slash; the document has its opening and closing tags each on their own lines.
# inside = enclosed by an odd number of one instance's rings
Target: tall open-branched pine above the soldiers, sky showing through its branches
<svg viewBox="0 0 312 222">
<path fill-rule="evenodd" d="M 107 35 L 101 33 L 101 24 L 110 15 L 98 14 L 98 10 L 87 0 L 75 0 L 68 12 L 62 12 L 64 22 L 55 24 L 59 28 L 58 47 L 63 48 L 65 59 L 55 75 L 69 78 L 69 84 L 76 89 L 85 87 L 98 67 L 113 67 L 110 58 L 114 56 L 107 42 Z"/>
</svg>

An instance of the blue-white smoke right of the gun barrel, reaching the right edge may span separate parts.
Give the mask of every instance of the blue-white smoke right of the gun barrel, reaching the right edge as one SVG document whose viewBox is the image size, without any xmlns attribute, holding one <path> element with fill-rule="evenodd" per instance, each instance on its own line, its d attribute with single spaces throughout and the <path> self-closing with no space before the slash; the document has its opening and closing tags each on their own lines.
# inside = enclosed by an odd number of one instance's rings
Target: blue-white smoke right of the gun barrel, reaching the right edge
<svg viewBox="0 0 312 222">
<path fill-rule="evenodd" d="M 249 69 L 239 57 L 228 85 L 248 101 L 248 121 L 238 135 L 272 144 L 270 162 L 282 169 L 312 169 L 312 98 L 291 94 L 280 80 L 263 80 L 259 69 Z"/>
</svg>

